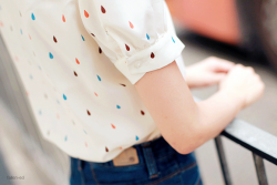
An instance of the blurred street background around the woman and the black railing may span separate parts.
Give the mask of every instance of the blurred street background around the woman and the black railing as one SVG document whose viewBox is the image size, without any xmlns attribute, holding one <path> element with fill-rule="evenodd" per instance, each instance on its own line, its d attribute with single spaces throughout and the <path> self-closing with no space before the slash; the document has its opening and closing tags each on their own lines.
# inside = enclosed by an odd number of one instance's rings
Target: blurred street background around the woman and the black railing
<svg viewBox="0 0 277 185">
<path fill-rule="evenodd" d="M 185 64 L 214 55 L 255 69 L 266 84 L 264 97 L 238 114 L 277 136 L 277 1 L 167 0 L 176 31 L 186 48 Z M 193 90 L 207 99 L 216 86 Z M 252 153 L 223 138 L 234 185 L 257 185 Z M 214 141 L 196 156 L 205 185 L 223 185 Z M 69 158 L 45 142 L 33 122 L 20 79 L 0 39 L 0 185 L 69 184 Z M 277 184 L 277 166 L 265 161 L 268 183 Z M 7 179 L 7 176 L 22 176 Z"/>
</svg>

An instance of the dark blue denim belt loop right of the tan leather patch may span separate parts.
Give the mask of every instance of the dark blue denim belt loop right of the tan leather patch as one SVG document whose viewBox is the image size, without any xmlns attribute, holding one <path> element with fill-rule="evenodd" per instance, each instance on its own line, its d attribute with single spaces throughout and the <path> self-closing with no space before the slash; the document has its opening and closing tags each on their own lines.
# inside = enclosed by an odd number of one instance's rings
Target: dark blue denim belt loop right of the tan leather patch
<svg viewBox="0 0 277 185">
<path fill-rule="evenodd" d="M 158 172 L 157 172 L 156 161 L 151 147 L 151 142 L 142 143 L 142 151 L 148 169 L 150 178 L 157 177 Z"/>
</svg>

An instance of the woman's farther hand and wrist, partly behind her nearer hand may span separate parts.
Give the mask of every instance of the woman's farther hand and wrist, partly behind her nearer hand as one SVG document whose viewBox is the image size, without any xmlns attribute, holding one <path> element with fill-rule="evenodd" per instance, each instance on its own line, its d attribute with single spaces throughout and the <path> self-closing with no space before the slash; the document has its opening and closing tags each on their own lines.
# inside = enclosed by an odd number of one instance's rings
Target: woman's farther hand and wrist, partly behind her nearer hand
<svg viewBox="0 0 277 185">
<path fill-rule="evenodd" d="M 209 56 L 186 68 L 186 83 L 188 88 L 218 84 L 234 65 L 233 62 Z"/>
</svg>

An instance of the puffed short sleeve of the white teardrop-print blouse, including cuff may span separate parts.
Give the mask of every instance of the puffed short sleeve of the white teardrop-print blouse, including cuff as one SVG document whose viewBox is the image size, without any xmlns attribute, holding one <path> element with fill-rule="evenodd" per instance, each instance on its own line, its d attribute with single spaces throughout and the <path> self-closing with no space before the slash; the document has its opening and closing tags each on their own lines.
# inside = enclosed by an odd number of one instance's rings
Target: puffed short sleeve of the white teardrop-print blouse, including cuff
<svg viewBox="0 0 277 185">
<path fill-rule="evenodd" d="M 172 63 L 184 44 L 164 0 L 79 0 L 82 22 L 129 81 Z"/>
</svg>

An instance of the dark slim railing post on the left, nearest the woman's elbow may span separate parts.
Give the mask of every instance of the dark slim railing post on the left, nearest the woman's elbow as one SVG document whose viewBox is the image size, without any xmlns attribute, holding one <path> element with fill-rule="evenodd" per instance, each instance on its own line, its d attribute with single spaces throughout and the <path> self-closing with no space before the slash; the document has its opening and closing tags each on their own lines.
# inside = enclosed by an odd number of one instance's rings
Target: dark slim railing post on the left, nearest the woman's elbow
<svg viewBox="0 0 277 185">
<path fill-rule="evenodd" d="M 228 169 L 227 161 L 226 161 L 226 157 L 225 157 L 225 154 L 224 154 L 223 142 L 222 142 L 222 138 L 220 138 L 219 135 L 217 137 L 215 137 L 215 145 L 216 145 L 216 148 L 217 148 L 217 154 L 218 154 L 218 157 L 219 157 L 225 185 L 232 185 L 232 181 L 230 181 L 230 176 L 229 176 L 229 169 Z"/>
</svg>

